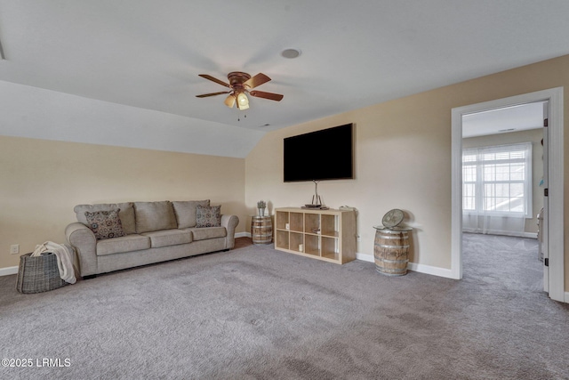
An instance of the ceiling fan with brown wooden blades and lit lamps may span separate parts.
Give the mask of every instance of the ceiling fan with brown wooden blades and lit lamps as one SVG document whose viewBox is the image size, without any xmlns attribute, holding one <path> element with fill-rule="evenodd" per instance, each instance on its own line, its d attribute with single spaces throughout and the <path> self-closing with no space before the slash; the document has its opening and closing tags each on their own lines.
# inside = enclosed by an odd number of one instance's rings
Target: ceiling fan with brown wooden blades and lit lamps
<svg viewBox="0 0 569 380">
<path fill-rule="evenodd" d="M 237 104 L 237 109 L 248 109 L 249 108 L 249 99 L 247 98 L 247 93 L 251 96 L 256 98 L 263 98 L 269 99 L 271 101 L 281 101 L 283 99 L 283 95 L 278 93 L 265 93 L 262 91 L 251 91 L 253 88 L 267 83 L 270 78 L 267 77 L 263 73 L 259 73 L 254 77 L 251 77 L 247 73 L 243 73 L 241 71 L 233 71 L 228 74 L 228 81 L 229 83 L 225 83 L 220 79 L 212 77 L 207 74 L 199 74 L 200 77 L 204 77 L 205 79 L 209 79 L 212 82 L 215 82 L 220 85 L 224 85 L 229 87 L 230 91 L 222 91 L 220 93 L 204 93 L 202 95 L 196 95 L 197 98 L 207 98 L 209 96 L 221 95 L 223 93 L 228 93 L 228 97 L 225 99 L 225 105 L 228 108 L 233 108 L 235 104 Z"/>
</svg>

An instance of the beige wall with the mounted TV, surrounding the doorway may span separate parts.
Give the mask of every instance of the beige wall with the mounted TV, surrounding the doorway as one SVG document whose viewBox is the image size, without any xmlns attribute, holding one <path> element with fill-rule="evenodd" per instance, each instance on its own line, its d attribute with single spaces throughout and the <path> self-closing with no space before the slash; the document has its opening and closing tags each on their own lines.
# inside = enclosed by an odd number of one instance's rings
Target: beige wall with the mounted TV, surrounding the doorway
<svg viewBox="0 0 569 380">
<path fill-rule="evenodd" d="M 246 206 L 252 210 L 260 198 L 273 206 L 308 203 L 312 183 L 283 182 L 283 138 L 355 123 L 357 179 L 322 182 L 319 192 L 325 203 L 357 207 L 361 236 L 357 251 L 368 255 L 373 254 L 373 225 L 391 208 L 405 210 L 415 227 L 411 261 L 450 270 L 451 109 L 558 86 L 565 86 L 565 100 L 569 99 L 569 56 L 268 133 L 245 159 Z M 566 131 L 567 101 L 564 112 Z M 565 151 L 569 151 L 567 141 L 569 133 L 565 133 Z M 569 179 L 569 154 L 564 159 Z M 565 180 L 565 215 L 568 195 Z M 568 222 L 565 217 L 565 225 Z M 569 284 L 566 237 L 565 232 L 565 284 Z"/>
</svg>

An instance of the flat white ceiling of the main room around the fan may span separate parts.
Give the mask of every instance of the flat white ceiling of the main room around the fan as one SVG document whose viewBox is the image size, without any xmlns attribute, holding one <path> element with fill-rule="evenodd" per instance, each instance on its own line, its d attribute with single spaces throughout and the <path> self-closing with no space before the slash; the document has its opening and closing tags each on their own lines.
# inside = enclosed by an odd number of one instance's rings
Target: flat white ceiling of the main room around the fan
<svg viewBox="0 0 569 380">
<path fill-rule="evenodd" d="M 565 55 L 568 15 L 566 0 L 0 0 L 0 81 L 260 133 Z M 235 70 L 284 100 L 196 98 L 225 90 L 198 74 Z"/>
</svg>

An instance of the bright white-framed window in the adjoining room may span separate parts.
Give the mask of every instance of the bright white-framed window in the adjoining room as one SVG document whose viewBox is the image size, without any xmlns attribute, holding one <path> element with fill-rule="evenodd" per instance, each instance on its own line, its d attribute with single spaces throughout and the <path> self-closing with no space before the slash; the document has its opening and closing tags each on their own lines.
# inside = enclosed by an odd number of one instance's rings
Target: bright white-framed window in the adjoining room
<svg viewBox="0 0 569 380">
<path fill-rule="evenodd" d="M 462 211 L 532 217 L 532 143 L 462 150 Z"/>
</svg>

